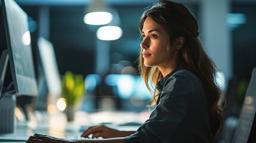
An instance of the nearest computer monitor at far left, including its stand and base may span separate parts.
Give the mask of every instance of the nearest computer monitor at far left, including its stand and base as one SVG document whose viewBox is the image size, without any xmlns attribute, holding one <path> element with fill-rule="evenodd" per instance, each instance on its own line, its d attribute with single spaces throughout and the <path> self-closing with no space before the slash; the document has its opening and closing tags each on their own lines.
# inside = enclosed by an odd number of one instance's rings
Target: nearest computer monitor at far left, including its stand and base
<svg viewBox="0 0 256 143">
<path fill-rule="evenodd" d="M 35 69 L 30 45 L 27 14 L 13 0 L 2 0 L 5 35 L 14 92 L 7 88 L 0 99 L 0 134 L 14 132 L 15 95 L 38 96 Z M 4 56 L 6 57 L 6 56 Z M 1 77 L 1 79 L 3 79 Z"/>
</svg>

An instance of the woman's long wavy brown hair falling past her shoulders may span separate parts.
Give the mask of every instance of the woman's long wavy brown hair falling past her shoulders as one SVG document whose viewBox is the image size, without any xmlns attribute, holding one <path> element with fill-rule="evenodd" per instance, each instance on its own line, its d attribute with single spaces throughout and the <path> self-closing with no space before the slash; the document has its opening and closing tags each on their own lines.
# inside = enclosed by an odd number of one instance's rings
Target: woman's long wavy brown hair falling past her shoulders
<svg viewBox="0 0 256 143">
<path fill-rule="evenodd" d="M 217 135 L 223 126 L 222 108 L 218 102 L 221 90 L 214 80 L 217 76 L 217 68 L 202 47 L 198 37 L 198 22 L 195 16 L 182 4 L 171 1 L 159 1 L 152 7 L 147 8 L 143 15 L 141 15 L 139 23 L 140 33 L 147 17 L 151 17 L 166 30 L 171 45 L 174 44 L 175 39 L 179 37 L 184 38 L 183 48 L 179 49 L 176 53 L 178 64 L 192 71 L 201 80 L 211 117 L 211 132 L 213 136 Z M 144 66 L 144 59 L 141 55 L 138 58 L 138 66 L 147 88 L 153 93 L 152 101 L 149 104 L 153 105 L 159 97 L 156 84 L 163 76 L 157 67 Z M 153 90 L 150 82 L 153 85 Z"/>
</svg>

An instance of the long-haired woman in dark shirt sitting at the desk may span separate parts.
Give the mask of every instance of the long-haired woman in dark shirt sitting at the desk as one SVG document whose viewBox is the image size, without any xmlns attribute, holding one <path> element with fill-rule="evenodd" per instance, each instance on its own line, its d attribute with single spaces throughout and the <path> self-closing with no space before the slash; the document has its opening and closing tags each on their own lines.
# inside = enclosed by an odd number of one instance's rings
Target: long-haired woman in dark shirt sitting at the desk
<svg viewBox="0 0 256 143">
<path fill-rule="evenodd" d="M 156 108 L 137 131 L 101 125 L 81 136 L 108 139 L 30 138 L 48 142 L 212 142 L 223 124 L 220 89 L 214 82 L 215 65 L 199 41 L 195 17 L 184 5 L 159 1 L 144 11 L 139 30 L 143 38 L 140 74 L 149 89 L 149 80 L 155 84 L 150 105 L 156 104 Z"/>
</svg>

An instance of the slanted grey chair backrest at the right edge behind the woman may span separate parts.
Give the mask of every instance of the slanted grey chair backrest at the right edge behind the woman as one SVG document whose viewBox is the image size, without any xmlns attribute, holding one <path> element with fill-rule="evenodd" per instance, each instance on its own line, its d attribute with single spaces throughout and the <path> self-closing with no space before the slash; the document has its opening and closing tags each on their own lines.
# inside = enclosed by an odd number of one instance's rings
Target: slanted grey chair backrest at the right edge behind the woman
<svg viewBox="0 0 256 143">
<path fill-rule="evenodd" d="M 251 133 L 252 123 L 256 111 L 256 67 L 252 70 L 252 76 L 246 91 L 245 100 L 239 116 L 239 123 L 236 127 L 233 142 L 243 143 L 248 142 Z M 256 122 L 256 120 L 255 120 Z M 255 123 L 254 123 L 255 124 Z M 255 136 L 256 137 L 256 136 Z"/>
</svg>

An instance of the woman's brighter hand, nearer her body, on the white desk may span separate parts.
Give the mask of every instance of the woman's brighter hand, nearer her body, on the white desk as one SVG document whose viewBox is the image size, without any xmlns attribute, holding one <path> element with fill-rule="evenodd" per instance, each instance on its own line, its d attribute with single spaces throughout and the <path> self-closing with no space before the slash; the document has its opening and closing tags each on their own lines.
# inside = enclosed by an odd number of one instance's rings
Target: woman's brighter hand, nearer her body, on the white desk
<svg viewBox="0 0 256 143">
<path fill-rule="evenodd" d="M 120 131 L 116 129 L 109 128 L 106 125 L 91 126 L 82 133 L 82 137 L 87 138 L 88 135 L 92 134 L 92 138 L 118 138 L 128 136 L 134 133 L 134 131 Z"/>
</svg>

